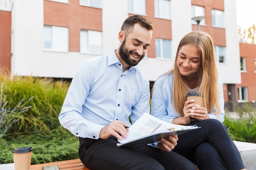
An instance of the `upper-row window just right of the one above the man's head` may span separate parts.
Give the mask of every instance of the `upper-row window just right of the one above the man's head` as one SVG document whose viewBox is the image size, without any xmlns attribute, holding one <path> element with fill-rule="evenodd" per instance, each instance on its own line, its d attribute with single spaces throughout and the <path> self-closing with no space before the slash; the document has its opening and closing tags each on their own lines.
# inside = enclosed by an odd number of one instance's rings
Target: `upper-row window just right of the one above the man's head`
<svg viewBox="0 0 256 170">
<path fill-rule="evenodd" d="M 155 17 L 170 18 L 170 0 L 155 0 Z"/>
</svg>

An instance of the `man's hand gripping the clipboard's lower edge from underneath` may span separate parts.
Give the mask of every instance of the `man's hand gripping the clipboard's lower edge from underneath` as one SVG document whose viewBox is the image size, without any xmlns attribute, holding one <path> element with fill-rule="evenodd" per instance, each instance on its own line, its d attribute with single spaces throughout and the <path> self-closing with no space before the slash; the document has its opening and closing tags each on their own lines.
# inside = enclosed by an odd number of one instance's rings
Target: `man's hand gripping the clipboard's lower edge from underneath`
<svg viewBox="0 0 256 170">
<path fill-rule="evenodd" d="M 162 138 L 160 142 L 158 142 L 157 146 L 164 151 L 170 152 L 177 145 L 178 136 L 169 136 L 168 139 Z"/>
</svg>

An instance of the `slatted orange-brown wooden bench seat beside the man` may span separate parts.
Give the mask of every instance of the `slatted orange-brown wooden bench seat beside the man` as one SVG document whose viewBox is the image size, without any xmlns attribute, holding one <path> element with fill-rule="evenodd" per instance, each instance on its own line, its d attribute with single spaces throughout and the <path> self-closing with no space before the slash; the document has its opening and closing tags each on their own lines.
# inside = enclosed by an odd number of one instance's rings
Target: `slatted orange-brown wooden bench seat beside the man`
<svg viewBox="0 0 256 170">
<path fill-rule="evenodd" d="M 90 170 L 89 168 L 86 168 L 83 165 L 80 159 L 31 165 L 30 170 L 43 170 L 43 166 L 52 166 L 52 165 L 58 166 L 60 170 Z"/>
</svg>

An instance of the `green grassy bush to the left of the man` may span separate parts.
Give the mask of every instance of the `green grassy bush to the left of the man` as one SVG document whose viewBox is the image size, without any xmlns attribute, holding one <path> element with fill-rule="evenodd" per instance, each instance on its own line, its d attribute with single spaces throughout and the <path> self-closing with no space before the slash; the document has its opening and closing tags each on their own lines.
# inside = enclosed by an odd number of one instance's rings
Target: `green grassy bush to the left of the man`
<svg viewBox="0 0 256 170">
<path fill-rule="evenodd" d="M 4 82 L 7 108 L 33 96 L 29 101 L 32 107 L 0 139 L 0 163 L 13 163 L 12 150 L 25 146 L 34 149 L 31 164 L 77 159 L 79 140 L 58 121 L 70 83 L 6 75 L 0 75 L 0 79 Z"/>
</svg>

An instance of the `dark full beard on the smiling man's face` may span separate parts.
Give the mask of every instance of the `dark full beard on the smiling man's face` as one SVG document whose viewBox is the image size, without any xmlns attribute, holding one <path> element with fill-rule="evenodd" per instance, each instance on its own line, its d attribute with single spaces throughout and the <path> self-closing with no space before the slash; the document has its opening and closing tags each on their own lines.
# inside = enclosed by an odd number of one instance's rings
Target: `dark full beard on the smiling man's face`
<svg viewBox="0 0 256 170">
<path fill-rule="evenodd" d="M 126 64 L 128 64 L 129 66 L 136 66 L 140 62 L 140 60 L 142 60 L 144 58 L 145 55 L 139 55 L 135 50 L 128 51 L 125 44 L 126 44 L 126 38 L 124 39 L 123 43 L 121 44 L 121 46 L 119 48 L 119 55 L 124 60 L 124 62 L 126 62 Z M 139 60 L 131 59 L 130 54 L 139 56 Z"/>
</svg>

